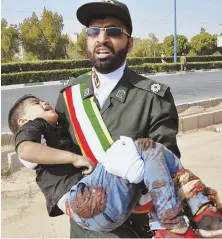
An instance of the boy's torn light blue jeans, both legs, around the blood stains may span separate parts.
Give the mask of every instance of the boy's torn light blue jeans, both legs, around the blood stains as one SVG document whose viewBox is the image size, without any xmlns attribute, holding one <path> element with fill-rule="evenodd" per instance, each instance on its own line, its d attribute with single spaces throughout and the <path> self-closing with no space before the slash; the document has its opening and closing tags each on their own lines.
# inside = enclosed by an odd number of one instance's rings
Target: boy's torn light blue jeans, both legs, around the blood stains
<svg viewBox="0 0 222 239">
<path fill-rule="evenodd" d="M 179 208 L 179 200 L 176 196 L 171 175 L 182 168 L 180 160 L 162 144 L 156 143 L 154 148 L 139 150 L 144 160 L 144 183 L 151 193 L 151 198 L 155 207 L 155 218 L 150 223 L 151 229 L 164 229 L 160 219 L 167 213 Z M 130 216 L 131 212 L 138 205 L 141 197 L 140 188 L 129 183 L 118 176 L 108 173 L 103 164 L 97 164 L 91 175 L 81 179 L 78 184 L 72 187 L 69 195 L 69 205 L 75 199 L 77 190 L 85 186 L 99 186 L 106 190 L 107 203 L 104 211 L 90 219 L 80 218 L 71 210 L 71 217 L 74 221 L 92 231 L 109 232 L 123 224 Z M 193 200 L 191 207 L 195 208 L 201 203 L 205 203 L 205 198 Z M 71 209 L 71 206 L 70 206 Z M 187 226 L 183 216 L 180 224 L 172 224 L 171 229 Z"/>
</svg>

